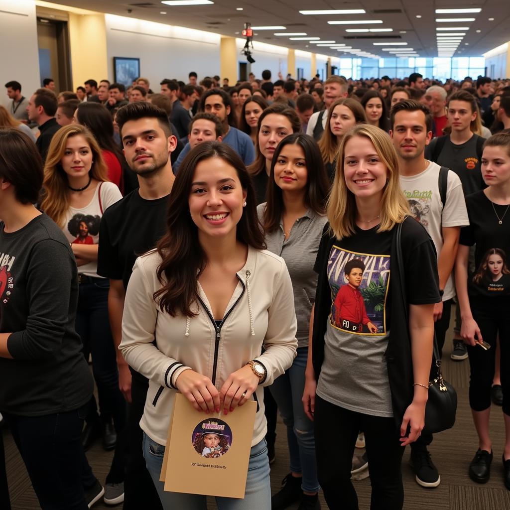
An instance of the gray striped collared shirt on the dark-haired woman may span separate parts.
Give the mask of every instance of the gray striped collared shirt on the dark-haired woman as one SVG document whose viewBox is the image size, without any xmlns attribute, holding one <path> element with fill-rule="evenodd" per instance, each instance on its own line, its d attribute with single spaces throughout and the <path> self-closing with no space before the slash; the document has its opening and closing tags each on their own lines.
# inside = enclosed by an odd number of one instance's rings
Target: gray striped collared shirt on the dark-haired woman
<svg viewBox="0 0 510 510">
<path fill-rule="evenodd" d="M 265 202 L 257 207 L 261 219 L 265 207 Z M 287 241 L 283 221 L 280 221 L 279 228 L 274 232 L 266 232 L 267 249 L 285 260 L 292 279 L 298 347 L 308 346 L 310 313 L 317 289 L 317 273 L 314 271 L 314 264 L 326 222 L 326 216 L 320 216 L 309 209 L 296 220 Z"/>
</svg>

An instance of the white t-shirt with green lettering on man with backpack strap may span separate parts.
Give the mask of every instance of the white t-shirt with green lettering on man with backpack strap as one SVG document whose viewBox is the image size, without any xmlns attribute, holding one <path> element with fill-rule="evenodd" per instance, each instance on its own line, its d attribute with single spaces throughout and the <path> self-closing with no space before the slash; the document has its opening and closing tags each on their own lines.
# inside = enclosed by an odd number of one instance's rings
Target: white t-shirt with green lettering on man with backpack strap
<svg viewBox="0 0 510 510">
<path fill-rule="evenodd" d="M 443 248 L 442 227 L 469 225 L 462 183 L 453 171 L 448 172 L 446 203 L 443 210 L 439 192 L 439 169 L 437 163 L 430 161 L 427 168 L 418 175 L 411 177 L 400 175 L 400 186 L 409 201 L 411 214 L 432 238 L 438 258 Z M 455 288 L 450 274 L 444 288 L 443 301 L 451 299 L 454 295 Z"/>
</svg>

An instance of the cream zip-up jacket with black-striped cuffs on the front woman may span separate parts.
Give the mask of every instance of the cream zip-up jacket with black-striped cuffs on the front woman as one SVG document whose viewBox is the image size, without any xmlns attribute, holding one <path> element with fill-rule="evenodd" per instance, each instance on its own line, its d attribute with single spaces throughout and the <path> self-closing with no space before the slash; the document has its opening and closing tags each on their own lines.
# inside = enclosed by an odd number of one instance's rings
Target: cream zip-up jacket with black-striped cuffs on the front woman
<svg viewBox="0 0 510 510">
<path fill-rule="evenodd" d="M 160 264 L 156 251 L 136 260 L 122 316 L 119 349 L 126 362 L 149 379 L 140 427 L 166 445 L 175 380 L 184 370 L 208 376 L 220 390 L 232 372 L 258 360 L 267 376 L 253 394 L 258 406 L 251 446 L 256 445 L 267 429 L 262 387 L 273 384 L 296 355 L 294 294 L 284 260 L 248 247 L 246 264 L 236 273 L 239 282 L 219 326 L 199 283 L 197 316 L 171 317 L 161 312 L 153 298 L 162 287 L 156 274 Z"/>
</svg>

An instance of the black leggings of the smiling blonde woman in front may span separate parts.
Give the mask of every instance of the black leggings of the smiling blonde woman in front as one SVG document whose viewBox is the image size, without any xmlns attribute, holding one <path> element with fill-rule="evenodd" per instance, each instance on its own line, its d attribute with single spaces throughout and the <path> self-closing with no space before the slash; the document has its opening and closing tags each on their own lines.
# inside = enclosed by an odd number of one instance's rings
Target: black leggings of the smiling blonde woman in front
<svg viewBox="0 0 510 510">
<path fill-rule="evenodd" d="M 351 482 L 358 432 L 365 432 L 372 485 L 371 510 L 401 510 L 404 448 L 394 418 L 356 413 L 315 397 L 315 453 L 319 484 L 330 510 L 358 510 Z"/>
</svg>

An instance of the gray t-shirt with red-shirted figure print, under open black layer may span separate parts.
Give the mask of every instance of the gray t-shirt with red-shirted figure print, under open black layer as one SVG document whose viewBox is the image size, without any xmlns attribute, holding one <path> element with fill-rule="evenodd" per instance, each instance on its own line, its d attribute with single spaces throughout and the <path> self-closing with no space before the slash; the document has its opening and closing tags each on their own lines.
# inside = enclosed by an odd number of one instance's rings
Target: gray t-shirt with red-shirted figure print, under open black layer
<svg viewBox="0 0 510 510">
<path fill-rule="evenodd" d="M 385 356 L 391 233 L 376 230 L 360 231 L 329 253 L 333 305 L 317 395 L 350 411 L 392 417 Z M 353 240 L 357 248 L 348 249 Z"/>
</svg>

